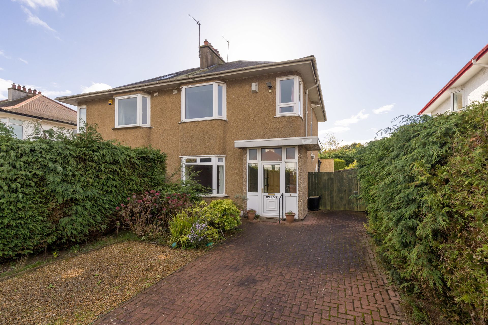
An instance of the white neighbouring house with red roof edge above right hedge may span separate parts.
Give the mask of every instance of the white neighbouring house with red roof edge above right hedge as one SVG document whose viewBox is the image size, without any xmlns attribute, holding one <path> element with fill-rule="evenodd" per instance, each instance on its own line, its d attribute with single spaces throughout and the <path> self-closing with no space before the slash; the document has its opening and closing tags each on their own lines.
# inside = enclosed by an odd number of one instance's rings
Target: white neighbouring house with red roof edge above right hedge
<svg viewBox="0 0 488 325">
<path fill-rule="evenodd" d="M 442 114 L 459 111 L 488 91 L 488 44 L 438 92 L 418 113 Z"/>
</svg>

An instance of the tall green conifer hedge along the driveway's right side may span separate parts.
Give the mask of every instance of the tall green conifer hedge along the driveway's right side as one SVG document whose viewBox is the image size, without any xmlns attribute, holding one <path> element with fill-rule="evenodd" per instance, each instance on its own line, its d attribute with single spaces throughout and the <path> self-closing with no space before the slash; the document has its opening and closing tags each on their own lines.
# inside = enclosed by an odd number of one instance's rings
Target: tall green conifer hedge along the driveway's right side
<svg viewBox="0 0 488 325">
<path fill-rule="evenodd" d="M 488 103 L 404 117 L 360 149 L 368 230 L 401 288 L 453 324 L 488 319 Z"/>
</svg>

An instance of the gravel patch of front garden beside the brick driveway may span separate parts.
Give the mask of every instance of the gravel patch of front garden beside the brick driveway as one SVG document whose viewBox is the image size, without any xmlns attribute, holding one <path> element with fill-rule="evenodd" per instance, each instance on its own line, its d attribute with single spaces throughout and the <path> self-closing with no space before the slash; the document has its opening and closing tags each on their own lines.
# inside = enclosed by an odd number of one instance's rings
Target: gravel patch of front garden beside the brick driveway
<svg viewBox="0 0 488 325">
<path fill-rule="evenodd" d="M 0 284 L 0 324 L 90 324 L 205 254 L 128 241 Z"/>
</svg>

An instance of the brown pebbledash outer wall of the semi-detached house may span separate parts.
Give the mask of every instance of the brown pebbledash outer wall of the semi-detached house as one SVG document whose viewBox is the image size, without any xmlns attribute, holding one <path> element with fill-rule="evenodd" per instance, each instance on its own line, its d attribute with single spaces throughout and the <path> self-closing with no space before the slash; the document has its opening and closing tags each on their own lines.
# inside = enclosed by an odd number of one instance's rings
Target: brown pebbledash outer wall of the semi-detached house
<svg viewBox="0 0 488 325">
<path fill-rule="evenodd" d="M 305 136 L 305 98 L 303 118 L 300 116 L 276 115 L 276 78 L 280 76 L 300 76 L 290 71 L 261 76 L 223 80 L 219 78 L 199 82 L 182 83 L 180 87 L 213 81 L 226 84 L 226 120 L 211 119 L 181 122 L 181 91 L 174 89 L 154 92 L 129 91 L 117 96 L 149 94 L 150 125 L 147 127 L 114 128 L 115 105 L 108 105 L 108 98 L 85 101 L 87 123 L 97 123 L 104 139 L 115 139 L 131 147 L 152 145 L 166 153 L 167 172 L 180 177 L 181 156 L 225 155 L 225 193 L 226 196 L 213 196 L 211 199 L 230 198 L 235 194 L 246 193 L 246 150 L 234 148 L 234 140 L 268 139 Z M 258 82 L 258 93 L 251 93 L 251 83 Z M 271 82 L 269 92 L 266 82 Z M 304 84 L 304 89 L 313 86 Z M 305 96 L 305 91 L 304 91 Z M 312 134 L 317 136 L 318 122 L 308 98 L 308 135 L 310 119 Z M 312 161 L 311 154 L 315 156 Z M 308 172 L 314 172 L 318 164 L 318 152 L 306 151 L 298 146 L 298 215 L 303 219 L 307 213 Z"/>
</svg>

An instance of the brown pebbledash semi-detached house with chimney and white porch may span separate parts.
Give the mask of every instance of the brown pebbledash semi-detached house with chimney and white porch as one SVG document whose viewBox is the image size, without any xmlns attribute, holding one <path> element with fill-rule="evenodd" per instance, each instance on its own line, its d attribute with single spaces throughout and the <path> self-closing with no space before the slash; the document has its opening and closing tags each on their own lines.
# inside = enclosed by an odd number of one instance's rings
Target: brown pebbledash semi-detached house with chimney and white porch
<svg viewBox="0 0 488 325">
<path fill-rule="evenodd" d="M 326 121 L 315 57 L 225 62 L 207 40 L 199 50 L 200 67 L 57 99 L 105 139 L 161 149 L 168 172 L 198 171 L 211 199 L 244 193 L 262 216 L 283 203 L 303 219 Z"/>
</svg>

